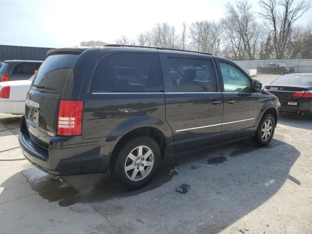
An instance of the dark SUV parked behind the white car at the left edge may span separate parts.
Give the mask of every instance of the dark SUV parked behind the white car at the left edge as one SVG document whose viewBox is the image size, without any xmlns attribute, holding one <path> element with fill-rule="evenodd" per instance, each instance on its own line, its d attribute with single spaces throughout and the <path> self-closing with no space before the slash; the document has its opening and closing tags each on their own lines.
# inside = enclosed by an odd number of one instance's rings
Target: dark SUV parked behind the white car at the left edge
<svg viewBox="0 0 312 234">
<path fill-rule="evenodd" d="M 6 60 L 0 67 L 0 82 L 29 79 L 35 74 L 43 61 Z"/>
</svg>

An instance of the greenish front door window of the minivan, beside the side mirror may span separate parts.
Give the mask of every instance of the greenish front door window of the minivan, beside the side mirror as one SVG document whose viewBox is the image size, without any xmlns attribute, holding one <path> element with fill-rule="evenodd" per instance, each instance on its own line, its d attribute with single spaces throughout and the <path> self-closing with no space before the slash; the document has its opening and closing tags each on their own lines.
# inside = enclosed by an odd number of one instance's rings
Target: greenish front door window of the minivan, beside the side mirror
<svg viewBox="0 0 312 234">
<path fill-rule="evenodd" d="M 252 84 L 236 67 L 220 62 L 223 78 L 224 92 L 226 93 L 251 93 Z"/>
</svg>

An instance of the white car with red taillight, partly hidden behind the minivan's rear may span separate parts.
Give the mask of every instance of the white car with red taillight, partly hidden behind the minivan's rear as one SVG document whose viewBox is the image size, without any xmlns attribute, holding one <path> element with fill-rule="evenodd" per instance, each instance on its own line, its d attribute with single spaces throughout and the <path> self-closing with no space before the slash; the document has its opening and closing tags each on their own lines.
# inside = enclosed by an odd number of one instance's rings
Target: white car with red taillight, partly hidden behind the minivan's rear
<svg viewBox="0 0 312 234">
<path fill-rule="evenodd" d="M 0 113 L 25 115 L 25 99 L 32 79 L 0 82 Z"/>
</svg>

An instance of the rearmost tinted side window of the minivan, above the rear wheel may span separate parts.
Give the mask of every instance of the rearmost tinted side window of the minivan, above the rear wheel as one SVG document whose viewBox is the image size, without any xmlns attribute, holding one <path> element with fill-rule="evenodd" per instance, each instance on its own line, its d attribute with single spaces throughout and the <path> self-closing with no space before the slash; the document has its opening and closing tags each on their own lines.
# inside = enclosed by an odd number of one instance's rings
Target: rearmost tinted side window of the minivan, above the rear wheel
<svg viewBox="0 0 312 234">
<path fill-rule="evenodd" d="M 118 53 L 102 59 L 92 92 L 160 92 L 162 73 L 157 54 Z"/>
</svg>

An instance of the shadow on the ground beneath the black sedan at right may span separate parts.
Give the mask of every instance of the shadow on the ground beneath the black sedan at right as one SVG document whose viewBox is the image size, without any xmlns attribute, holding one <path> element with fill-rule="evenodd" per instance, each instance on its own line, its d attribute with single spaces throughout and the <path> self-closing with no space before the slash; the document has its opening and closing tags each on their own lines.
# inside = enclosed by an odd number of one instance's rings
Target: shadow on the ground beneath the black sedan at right
<svg viewBox="0 0 312 234">
<path fill-rule="evenodd" d="M 300 116 L 288 113 L 280 113 L 277 123 L 289 127 L 312 130 L 312 117 L 306 115 Z"/>
</svg>

